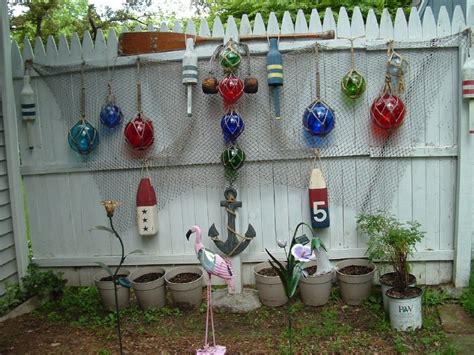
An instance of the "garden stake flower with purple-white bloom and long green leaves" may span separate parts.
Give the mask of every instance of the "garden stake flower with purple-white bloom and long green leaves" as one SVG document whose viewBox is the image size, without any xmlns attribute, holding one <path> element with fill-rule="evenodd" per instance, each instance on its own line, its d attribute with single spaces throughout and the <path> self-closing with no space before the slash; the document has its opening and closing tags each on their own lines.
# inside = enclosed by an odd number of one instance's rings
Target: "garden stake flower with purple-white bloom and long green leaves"
<svg viewBox="0 0 474 355">
<path fill-rule="evenodd" d="M 305 235 L 297 237 L 298 231 L 304 226 L 308 227 L 311 231 L 311 240 Z M 307 244 L 310 243 L 310 246 Z M 270 256 L 269 262 L 273 269 L 276 270 L 278 276 L 280 277 L 281 282 L 283 283 L 283 288 L 285 294 L 291 301 L 292 297 L 296 293 L 296 289 L 300 282 L 301 276 L 307 276 L 306 271 L 304 270 L 304 264 L 310 260 L 316 259 L 314 254 L 315 250 L 319 250 L 321 247 L 324 248 L 321 240 L 314 236 L 313 229 L 304 222 L 301 222 L 296 226 L 295 232 L 290 242 L 290 252 L 288 253 L 286 246 L 286 241 L 278 241 L 278 246 L 285 250 L 286 262 L 281 263 L 278 261 L 269 251 L 265 248 L 265 251 Z M 325 248 L 324 248 L 325 249 Z M 292 307 L 290 302 L 288 302 L 288 343 L 289 343 L 289 352 L 292 353 L 292 343 L 293 343 L 293 334 L 292 334 Z"/>
</svg>

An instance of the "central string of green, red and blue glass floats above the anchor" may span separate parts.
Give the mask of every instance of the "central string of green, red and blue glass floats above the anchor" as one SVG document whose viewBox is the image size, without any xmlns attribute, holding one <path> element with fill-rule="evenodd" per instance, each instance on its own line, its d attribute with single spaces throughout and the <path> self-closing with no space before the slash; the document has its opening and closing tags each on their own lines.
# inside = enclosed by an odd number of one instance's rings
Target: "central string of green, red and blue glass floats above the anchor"
<svg viewBox="0 0 474 355">
<path fill-rule="evenodd" d="M 247 77 L 242 81 L 237 73 L 242 63 L 242 55 L 247 58 Z M 214 77 L 214 62 L 218 61 L 224 71 L 224 78 L 218 81 Z M 236 140 L 245 129 L 242 116 L 237 112 L 235 104 L 245 93 L 258 91 L 258 81 L 250 75 L 250 51 L 247 45 L 235 42 L 232 38 L 226 44 L 216 48 L 210 60 L 209 76 L 202 81 L 205 94 L 219 95 L 224 99 L 224 115 L 221 118 L 221 129 L 226 148 L 221 154 L 221 162 L 226 169 L 226 177 L 231 184 L 236 171 L 245 161 L 245 152 Z"/>
</svg>

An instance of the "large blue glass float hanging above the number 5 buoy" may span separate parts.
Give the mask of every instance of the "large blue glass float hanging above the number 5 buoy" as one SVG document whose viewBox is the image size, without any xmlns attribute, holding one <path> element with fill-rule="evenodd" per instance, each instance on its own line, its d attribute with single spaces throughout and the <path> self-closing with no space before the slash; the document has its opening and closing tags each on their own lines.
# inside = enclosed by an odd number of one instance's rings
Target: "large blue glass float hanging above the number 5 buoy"
<svg viewBox="0 0 474 355">
<path fill-rule="evenodd" d="M 328 134 L 334 128 L 334 111 L 323 101 L 314 101 L 304 110 L 303 127 L 314 136 Z"/>
</svg>

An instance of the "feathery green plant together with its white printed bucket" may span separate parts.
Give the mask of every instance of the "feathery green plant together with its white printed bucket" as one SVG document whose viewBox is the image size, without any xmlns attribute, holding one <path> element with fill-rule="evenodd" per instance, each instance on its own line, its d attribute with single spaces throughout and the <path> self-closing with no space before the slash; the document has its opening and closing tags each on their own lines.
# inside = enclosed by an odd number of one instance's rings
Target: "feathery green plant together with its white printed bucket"
<svg viewBox="0 0 474 355">
<path fill-rule="evenodd" d="M 403 224 L 395 217 L 383 214 L 361 214 L 357 224 L 369 237 L 369 257 L 384 260 L 393 267 L 393 273 L 381 277 L 382 282 L 390 283 L 386 285 L 388 290 L 384 295 L 392 328 L 420 328 L 422 290 L 414 286 L 416 279 L 410 274 L 408 257 L 413 255 L 416 243 L 423 239 L 421 225 L 416 221 Z"/>
</svg>

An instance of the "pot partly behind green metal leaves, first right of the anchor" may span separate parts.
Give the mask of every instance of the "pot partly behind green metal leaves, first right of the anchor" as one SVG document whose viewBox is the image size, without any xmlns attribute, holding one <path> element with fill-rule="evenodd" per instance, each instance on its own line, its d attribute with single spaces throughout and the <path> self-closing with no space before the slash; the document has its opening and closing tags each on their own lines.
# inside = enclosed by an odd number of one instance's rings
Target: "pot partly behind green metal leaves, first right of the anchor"
<svg viewBox="0 0 474 355">
<path fill-rule="evenodd" d="M 259 271 L 272 266 L 268 261 L 255 265 L 253 272 L 257 283 L 260 302 L 269 307 L 280 307 L 288 302 L 283 284 L 278 276 L 265 276 Z"/>
</svg>

